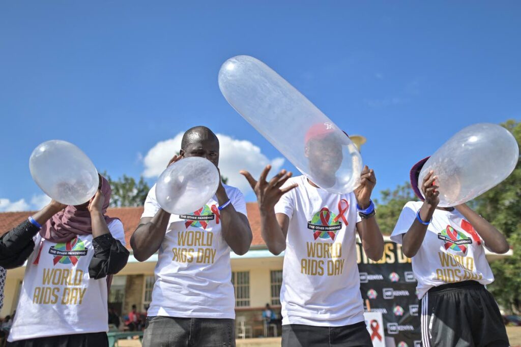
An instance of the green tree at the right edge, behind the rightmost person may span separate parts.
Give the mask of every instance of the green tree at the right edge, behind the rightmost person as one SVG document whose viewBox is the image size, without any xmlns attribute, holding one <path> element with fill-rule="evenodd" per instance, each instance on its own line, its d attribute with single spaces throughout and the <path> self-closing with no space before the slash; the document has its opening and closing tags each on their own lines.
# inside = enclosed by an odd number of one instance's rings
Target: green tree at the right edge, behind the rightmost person
<svg viewBox="0 0 521 347">
<path fill-rule="evenodd" d="M 501 124 L 521 144 L 521 123 Z M 514 254 L 490 265 L 495 281 L 489 286 L 495 299 L 511 312 L 521 312 L 521 164 L 501 184 L 471 202 L 472 207 L 502 232 Z"/>
</svg>

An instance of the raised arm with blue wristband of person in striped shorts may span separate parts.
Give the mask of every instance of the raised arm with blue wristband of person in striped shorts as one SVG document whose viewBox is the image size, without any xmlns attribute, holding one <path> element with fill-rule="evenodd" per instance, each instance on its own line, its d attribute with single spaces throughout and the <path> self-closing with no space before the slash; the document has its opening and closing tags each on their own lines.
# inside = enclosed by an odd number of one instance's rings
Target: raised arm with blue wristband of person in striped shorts
<svg viewBox="0 0 521 347">
<path fill-rule="evenodd" d="M 421 183 L 421 191 L 424 194 L 425 200 L 420 208 L 420 218 L 424 222 L 428 222 L 432 219 L 434 211 L 440 203 L 440 192 L 437 190 L 439 187 L 434 185 L 438 177 L 434 175 L 433 171 L 430 171 L 425 175 L 423 182 Z M 421 243 L 425 238 L 428 225 L 421 224 L 417 219 L 414 219 L 413 224 L 407 230 L 407 233 L 403 235 L 402 239 L 402 251 L 408 258 L 413 258 L 421 247 Z"/>
</svg>

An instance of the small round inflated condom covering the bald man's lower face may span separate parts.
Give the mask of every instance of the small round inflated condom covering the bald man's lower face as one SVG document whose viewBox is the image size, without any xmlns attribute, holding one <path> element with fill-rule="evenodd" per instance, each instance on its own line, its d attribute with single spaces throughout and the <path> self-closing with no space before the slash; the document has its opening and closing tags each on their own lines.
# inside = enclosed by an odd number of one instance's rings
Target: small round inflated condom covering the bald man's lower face
<svg viewBox="0 0 521 347">
<path fill-rule="evenodd" d="M 156 199 L 169 213 L 192 213 L 215 195 L 219 182 L 219 172 L 212 162 L 201 157 L 183 158 L 159 176 Z"/>
</svg>

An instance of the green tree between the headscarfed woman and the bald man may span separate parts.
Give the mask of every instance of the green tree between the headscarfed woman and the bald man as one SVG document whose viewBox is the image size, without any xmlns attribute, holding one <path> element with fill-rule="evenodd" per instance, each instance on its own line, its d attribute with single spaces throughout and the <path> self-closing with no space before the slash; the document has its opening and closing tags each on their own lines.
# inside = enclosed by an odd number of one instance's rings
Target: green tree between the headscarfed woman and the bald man
<svg viewBox="0 0 521 347">
<path fill-rule="evenodd" d="M 110 207 L 136 207 L 143 206 L 150 187 L 143 177 L 136 182 L 134 177 L 123 175 L 117 180 L 112 179 L 108 174 L 102 174 L 107 178 L 112 188 Z"/>
</svg>

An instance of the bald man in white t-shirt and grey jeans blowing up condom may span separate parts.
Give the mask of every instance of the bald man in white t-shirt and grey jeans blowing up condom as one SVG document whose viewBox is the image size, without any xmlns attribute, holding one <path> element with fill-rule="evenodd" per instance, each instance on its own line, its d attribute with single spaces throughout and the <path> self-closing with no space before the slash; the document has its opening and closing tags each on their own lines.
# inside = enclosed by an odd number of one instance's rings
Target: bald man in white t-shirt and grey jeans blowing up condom
<svg viewBox="0 0 521 347">
<path fill-rule="evenodd" d="M 184 133 L 179 153 L 170 164 L 203 157 L 218 166 L 219 140 L 196 126 Z M 130 240 L 139 261 L 159 251 L 143 346 L 234 346 L 230 249 L 242 255 L 251 242 L 239 189 L 220 183 L 204 207 L 179 216 L 159 206 L 152 187 Z"/>
</svg>

